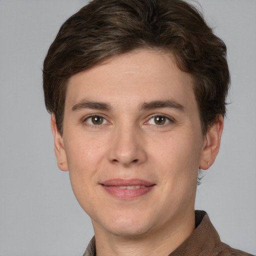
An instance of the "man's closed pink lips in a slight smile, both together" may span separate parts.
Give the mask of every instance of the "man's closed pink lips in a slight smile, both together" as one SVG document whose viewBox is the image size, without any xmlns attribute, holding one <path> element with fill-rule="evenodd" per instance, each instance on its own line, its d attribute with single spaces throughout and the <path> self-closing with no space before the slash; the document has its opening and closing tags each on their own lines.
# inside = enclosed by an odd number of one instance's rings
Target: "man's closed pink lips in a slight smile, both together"
<svg viewBox="0 0 256 256">
<path fill-rule="evenodd" d="M 143 179 L 108 179 L 100 183 L 106 192 L 118 199 L 133 199 L 151 191 L 154 183 Z M 125 188 L 129 186 L 128 188 Z M 132 187 L 134 186 L 134 188 Z M 135 188 L 136 186 L 136 188 Z"/>
</svg>

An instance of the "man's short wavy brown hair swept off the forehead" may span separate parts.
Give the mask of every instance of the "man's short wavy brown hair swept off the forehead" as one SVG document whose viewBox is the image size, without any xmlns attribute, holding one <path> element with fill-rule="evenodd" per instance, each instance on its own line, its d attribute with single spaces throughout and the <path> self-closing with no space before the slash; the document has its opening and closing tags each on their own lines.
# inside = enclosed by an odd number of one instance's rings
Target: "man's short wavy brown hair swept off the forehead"
<svg viewBox="0 0 256 256">
<path fill-rule="evenodd" d="M 170 52 L 191 74 L 202 132 L 224 116 L 230 82 L 226 46 L 183 0 L 93 0 L 60 27 L 43 63 L 45 106 L 62 134 L 68 79 L 139 48 Z"/>
</svg>

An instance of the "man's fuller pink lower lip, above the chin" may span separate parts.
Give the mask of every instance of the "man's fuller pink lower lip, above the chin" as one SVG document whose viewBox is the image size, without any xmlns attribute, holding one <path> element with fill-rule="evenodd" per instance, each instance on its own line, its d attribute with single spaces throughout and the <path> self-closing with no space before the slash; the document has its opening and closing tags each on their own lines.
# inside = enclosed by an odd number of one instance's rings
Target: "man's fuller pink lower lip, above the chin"
<svg viewBox="0 0 256 256">
<path fill-rule="evenodd" d="M 145 186 L 145 187 L 134 188 L 134 189 L 127 189 L 127 188 L 122 189 L 122 188 L 119 188 L 118 186 L 106 186 L 106 185 L 101 185 L 101 186 L 109 194 L 113 195 L 118 199 L 133 199 L 148 193 L 154 187 L 154 185 L 151 185 L 151 186 Z"/>
</svg>

